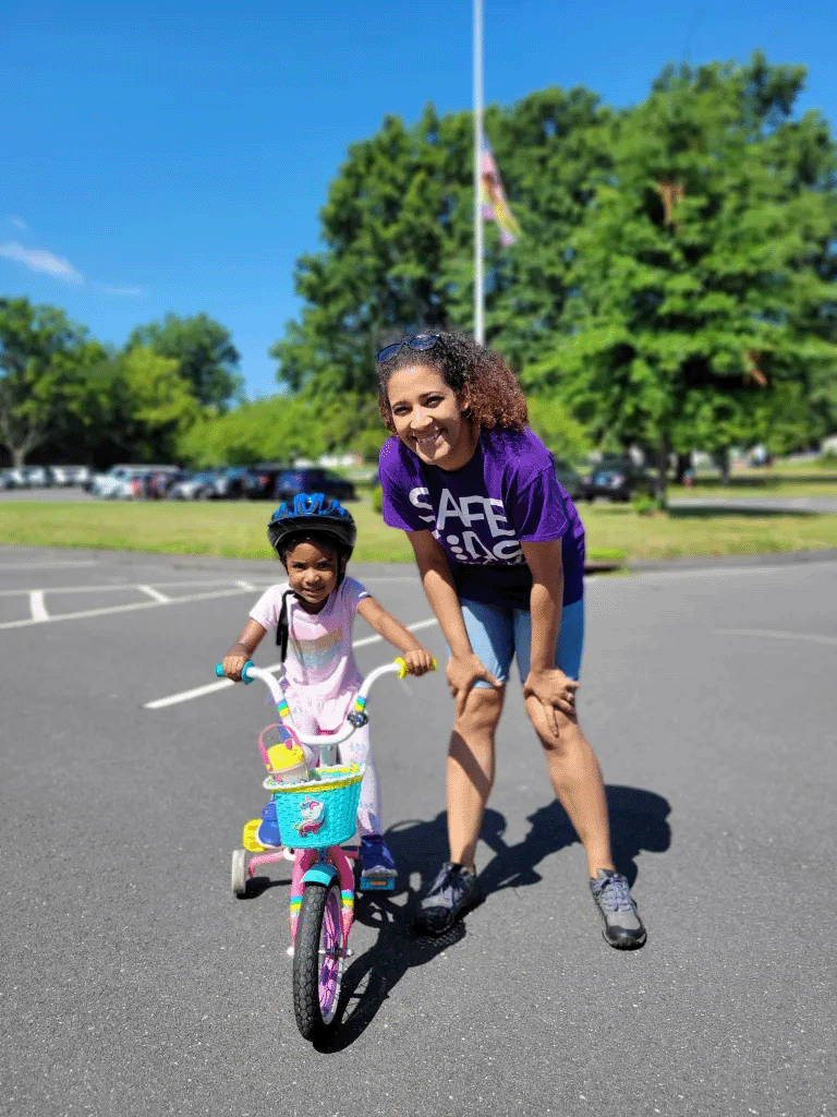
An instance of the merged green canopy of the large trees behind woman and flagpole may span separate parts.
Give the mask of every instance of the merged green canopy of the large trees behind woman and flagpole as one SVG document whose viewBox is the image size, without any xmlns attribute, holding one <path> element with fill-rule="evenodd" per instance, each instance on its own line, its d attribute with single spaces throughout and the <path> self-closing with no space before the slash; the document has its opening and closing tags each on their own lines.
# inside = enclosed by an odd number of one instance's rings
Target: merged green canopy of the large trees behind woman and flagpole
<svg viewBox="0 0 837 1117">
<path fill-rule="evenodd" d="M 485 335 L 530 395 L 662 458 L 779 413 L 783 442 L 791 414 L 797 440 L 837 427 L 836 149 L 818 113 L 793 117 L 804 80 L 756 54 L 670 67 L 623 112 L 580 88 L 488 109 L 523 235 L 489 229 Z M 291 391 L 372 393 L 381 344 L 471 328 L 471 175 L 465 113 L 387 117 L 349 150 L 271 350 Z"/>
</svg>

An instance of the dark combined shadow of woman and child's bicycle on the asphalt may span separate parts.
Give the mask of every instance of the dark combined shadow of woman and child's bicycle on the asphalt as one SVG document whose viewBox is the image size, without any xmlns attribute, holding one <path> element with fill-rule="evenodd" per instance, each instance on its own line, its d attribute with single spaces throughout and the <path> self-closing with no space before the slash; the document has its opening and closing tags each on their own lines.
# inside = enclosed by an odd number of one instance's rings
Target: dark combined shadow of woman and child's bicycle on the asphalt
<svg viewBox="0 0 837 1117">
<path fill-rule="evenodd" d="M 643 787 L 609 785 L 605 789 L 610 819 L 614 863 L 633 886 L 636 858 L 642 851 L 664 852 L 671 844 L 667 818 L 671 805 L 656 792 Z M 483 818 L 481 840 L 494 853 L 480 872 L 483 894 L 538 884 L 537 866 L 552 853 L 578 841 L 564 808 L 554 800 L 530 814 L 531 829 L 522 841 L 509 846 L 503 840 L 506 818 L 489 808 Z M 387 842 L 398 866 L 394 892 L 364 894 L 355 905 L 355 919 L 377 930 L 369 949 L 355 958 L 343 976 L 337 1031 L 317 1050 L 335 1053 L 350 1047 L 368 1028 L 392 990 L 413 966 L 425 965 L 464 938 L 466 922 L 460 920 L 439 938 L 415 935 L 412 929 L 417 891 L 410 885 L 419 871 L 429 881 L 449 857 L 448 814 L 431 821 L 405 821 L 387 830 Z M 406 901 L 404 901 L 406 897 Z"/>
</svg>

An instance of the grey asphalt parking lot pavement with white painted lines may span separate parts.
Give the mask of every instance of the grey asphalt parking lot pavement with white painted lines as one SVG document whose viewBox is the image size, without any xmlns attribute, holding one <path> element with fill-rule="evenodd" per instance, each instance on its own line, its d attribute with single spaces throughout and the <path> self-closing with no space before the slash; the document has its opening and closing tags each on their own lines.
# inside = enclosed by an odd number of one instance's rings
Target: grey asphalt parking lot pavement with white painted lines
<svg viewBox="0 0 837 1117">
<path fill-rule="evenodd" d="M 411 566 L 353 574 L 443 658 Z M 596 577 L 579 714 L 642 951 L 602 938 L 517 688 L 443 941 L 411 911 L 445 853 L 442 672 L 371 698 L 391 897 L 358 900 L 335 1040 L 298 1034 L 287 884 L 230 891 L 264 802 L 257 686 L 213 666 L 275 563 L 0 547 L 9 1117 L 750 1115 L 837 1107 L 837 564 Z M 389 651 L 362 621 L 362 671 Z M 258 660 L 276 661 L 266 645 Z"/>
</svg>

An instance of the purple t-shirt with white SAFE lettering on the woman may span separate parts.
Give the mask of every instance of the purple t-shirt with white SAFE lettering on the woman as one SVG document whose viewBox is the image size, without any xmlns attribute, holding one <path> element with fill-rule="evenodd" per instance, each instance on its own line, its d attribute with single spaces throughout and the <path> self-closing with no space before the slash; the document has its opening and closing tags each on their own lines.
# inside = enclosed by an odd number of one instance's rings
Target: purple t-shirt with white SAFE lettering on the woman
<svg viewBox="0 0 837 1117">
<path fill-rule="evenodd" d="M 584 525 L 552 455 L 528 428 L 483 430 L 471 460 L 451 471 L 391 438 L 379 466 L 384 522 L 433 532 L 460 598 L 528 609 L 532 576 L 520 544 L 550 540 L 561 540 L 564 604 L 583 596 Z"/>
</svg>

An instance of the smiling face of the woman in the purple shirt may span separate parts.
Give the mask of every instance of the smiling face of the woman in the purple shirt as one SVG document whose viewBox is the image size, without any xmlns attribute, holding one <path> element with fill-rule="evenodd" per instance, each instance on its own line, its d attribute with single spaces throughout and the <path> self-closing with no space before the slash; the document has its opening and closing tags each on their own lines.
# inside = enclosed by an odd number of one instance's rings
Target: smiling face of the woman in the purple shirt
<svg viewBox="0 0 837 1117">
<path fill-rule="evenodd" d="M 408 365 L 386 385 L 395 432 L 429 466 L 461 469 L 477 447 L 479 428 L 465 419 L 468 403 L 444 382 L 437 369 Z"/>
</svg>

